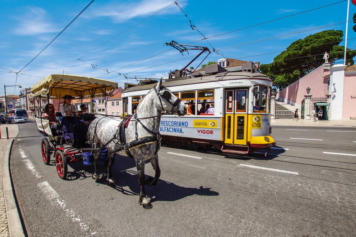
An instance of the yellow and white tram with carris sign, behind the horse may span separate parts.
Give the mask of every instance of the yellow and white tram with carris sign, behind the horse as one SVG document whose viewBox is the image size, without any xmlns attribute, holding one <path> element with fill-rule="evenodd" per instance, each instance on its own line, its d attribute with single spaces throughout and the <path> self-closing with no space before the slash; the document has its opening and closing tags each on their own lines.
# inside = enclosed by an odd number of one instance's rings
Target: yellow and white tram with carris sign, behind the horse
<svg viewBox="0 0 356 237">
<path fill-rule="evenodd" d="M 205 72 L 209 74 L 176 76 L 163 83 L 187 107 L 193 103 L 195 115 L 163 115 L 159 129 L 162 143 L 214 146 L 223 152 L 239 154 L 267 149 L 267 155 L 275 145 L 270 136 L 272 80 L 253 72 L 253 68 L 226 71 L 214 64 L 206 66 Z M 133 113 L 133 108 L 152 87 L 148 84 L 125 88 L 121 93 L 123 114 Z M 213 104 L 214 114 L 199 113 L 205 104 Z"/>
</svg>

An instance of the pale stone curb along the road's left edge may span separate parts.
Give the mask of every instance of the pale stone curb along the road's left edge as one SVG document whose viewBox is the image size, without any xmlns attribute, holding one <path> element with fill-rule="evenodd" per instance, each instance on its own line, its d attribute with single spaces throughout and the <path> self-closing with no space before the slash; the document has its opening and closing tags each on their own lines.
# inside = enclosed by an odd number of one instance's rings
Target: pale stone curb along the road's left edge
<svg viewBox="0 0 356 237">
<path fill-rule="evenodd" d="M 17 127 L 16 136 L 19 133 L 19 128 Z M 14 190 L 12 189 L 12 181 L 10 175 L 10 155 L 12 145 L 15 139 L 12 139 L 11 143 L 7 145 L 4 161 L 2 164 L 2 181 L 4 185 L 4 199 L 5 199 L 5 209 L 6 209 L 6 219 L 7 227 L 9 228 L 10 237 L 25 237 L 25 233 L 22 229 L 22 223 L 20 220 L 19 211 L 17 209 Z M 10 225 L 11 224 L 11 225 Z"/>
</svg>

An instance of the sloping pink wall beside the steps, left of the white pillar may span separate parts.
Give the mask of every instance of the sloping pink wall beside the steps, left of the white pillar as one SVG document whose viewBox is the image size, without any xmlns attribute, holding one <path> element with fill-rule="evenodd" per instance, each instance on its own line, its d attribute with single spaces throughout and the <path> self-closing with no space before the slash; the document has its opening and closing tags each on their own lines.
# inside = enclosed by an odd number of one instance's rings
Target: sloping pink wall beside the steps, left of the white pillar
<svg viewBox="0 0 356 237">
<path fill-rule="evenodd" d="M 328 77 L 324 78 L 324 76 L 329 74 L 330 71 L 324 69 L 324 65 L 321 65 L 308 75 L 280 91 L 277 98 L 300 109 L 308 87 L 310 88 L 310 95 L 313 95 L 313 97 L 325 97 L 328 94 L 326 90 L 329 79 Z"/>
</svg>

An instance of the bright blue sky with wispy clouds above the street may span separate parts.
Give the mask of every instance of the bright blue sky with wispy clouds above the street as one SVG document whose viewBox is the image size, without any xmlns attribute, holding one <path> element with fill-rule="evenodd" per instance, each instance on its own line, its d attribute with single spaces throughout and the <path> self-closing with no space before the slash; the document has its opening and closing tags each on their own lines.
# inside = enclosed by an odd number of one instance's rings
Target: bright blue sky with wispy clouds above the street
<svg viewBox="0 0 356 237">
<path fill-rule="evenodd" d="M 193 50 L 182 55 L 164 45 L 172 40 L 208 47 L 212 53 L 203 63 L 225 56 L 266 64 L 297 39 L 326 29 L 344 33 L 346 29 L 347 1 L 342 0 L 178 0 L 178 5 L 173 0 L 95 0 L 83 11 L 90 2 L 0 1 L 0 96 L 4 84 L 31 87 L 50 74 L 98 77 L 121 87 L 124 82 L 135 83 L 135 76 L 167 77 L 170 70 L 183 68 L 199 53 Z M 334 5 L 323 7 L 329 4 Z M 323 8 L 253 26 L 318 7 Z M 355 11 L 350 1 L 349 19 Z M 349 22 L 347 48 L 355 49 L 353 25 Z M 204 57 L 191 66 L 198 66 Z M 15 95 L 20 90 L 6 89 Z"/>
</svg>

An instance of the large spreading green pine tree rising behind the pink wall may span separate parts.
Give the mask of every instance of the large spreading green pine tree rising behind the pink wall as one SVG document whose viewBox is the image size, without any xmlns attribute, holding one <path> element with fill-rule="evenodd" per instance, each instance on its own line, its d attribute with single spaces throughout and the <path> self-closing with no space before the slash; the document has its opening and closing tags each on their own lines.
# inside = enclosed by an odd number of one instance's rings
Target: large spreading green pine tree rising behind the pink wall
<svg viewBox="0 0 356 237">
<path fill-rule="evenodd" d="M 277 55 L 273 63 L 262 64 L 260 70 L 283 89 L 322 65 L 325 52 L 329 53 L 330 63 L 343 59 L 345 47 L 339 45 L 343 35 L 342 31 L 327 30 L 298 39 Z M 347 62 L 351 65 L 355 55 L 355 50 L 347 52 Z"/>
</svg>

